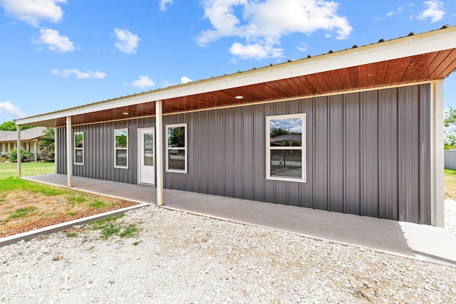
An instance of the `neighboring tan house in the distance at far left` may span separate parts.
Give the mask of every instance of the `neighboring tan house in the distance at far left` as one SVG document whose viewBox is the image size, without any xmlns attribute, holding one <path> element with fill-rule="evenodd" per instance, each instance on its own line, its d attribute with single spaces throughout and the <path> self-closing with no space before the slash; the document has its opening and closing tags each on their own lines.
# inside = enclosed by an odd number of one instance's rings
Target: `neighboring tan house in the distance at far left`
<svg viewBox="0 0 456 304">
<path fill-rule="evenodd" d="M 38 147 L 38 140 L 44 135 L 46 127 L 32 127 L 21 131 L 21 147 L 33 153 L 33 159 L 39 159 L 41 150 Z M 8 156 L 11 149 L 17 147 L 17 131 L 0 131 L 0 154 Z"/>
</svg>

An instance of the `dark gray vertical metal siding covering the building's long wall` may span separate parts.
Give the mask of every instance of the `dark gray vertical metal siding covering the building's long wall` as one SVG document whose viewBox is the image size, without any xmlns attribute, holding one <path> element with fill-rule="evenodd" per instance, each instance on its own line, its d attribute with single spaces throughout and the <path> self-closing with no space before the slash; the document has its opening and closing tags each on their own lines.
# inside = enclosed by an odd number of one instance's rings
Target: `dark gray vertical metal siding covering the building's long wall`
<svg viewBox="0 0 456 304">
<path fill-rule="evenodd" d="M 266 116 L 295 113 L 306 113 L 306 182 L 268 180 Z M 188 173 L 165 172 L 167 189 L 431 224 L 429 84 L 166 115 L 163 123 L 188 124 Z M 155 127 L 155 118 L 74 126 L 85 132 L 86 160 L 73 174 L 136 184 L 140 127 Z M 129 169 L 114 168 L 116 128 L 129 130 Z M 65 145 L 58 173 L 66 174 Z"/>
</svg>

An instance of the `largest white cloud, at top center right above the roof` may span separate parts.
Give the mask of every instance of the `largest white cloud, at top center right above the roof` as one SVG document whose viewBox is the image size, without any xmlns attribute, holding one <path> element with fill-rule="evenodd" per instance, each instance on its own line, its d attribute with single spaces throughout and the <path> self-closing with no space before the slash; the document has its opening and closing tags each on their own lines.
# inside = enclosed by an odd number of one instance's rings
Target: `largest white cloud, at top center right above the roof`
<svg viewBox="0 0 456 304">
<path fill-rule="evenodd" d="M 237 36 L 246 43 L 234 43 L 230 51 L 240 58 L 282 56 L 281 36 L 288 33 L 310 35 L 324 30 L 347 38 L 353 28 L 346 17 L 338 16 L 338 4 L 321 0 L 204 0 L 204 17 L 213 28 L 202 31 L 200 46 L 227 36 Z"/>
</svg>

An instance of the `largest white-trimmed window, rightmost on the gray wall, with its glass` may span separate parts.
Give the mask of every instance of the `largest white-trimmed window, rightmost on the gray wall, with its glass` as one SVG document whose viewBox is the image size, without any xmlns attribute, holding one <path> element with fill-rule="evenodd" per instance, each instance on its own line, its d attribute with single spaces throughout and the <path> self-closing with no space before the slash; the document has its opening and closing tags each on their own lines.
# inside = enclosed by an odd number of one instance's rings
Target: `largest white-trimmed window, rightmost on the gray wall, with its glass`
<svg viewBox="0 0 456 304">
<path fill-rule="evenodd" d="M 266 179 L 306 182 L 306 114 L 266 117 Z"/>
</svg>

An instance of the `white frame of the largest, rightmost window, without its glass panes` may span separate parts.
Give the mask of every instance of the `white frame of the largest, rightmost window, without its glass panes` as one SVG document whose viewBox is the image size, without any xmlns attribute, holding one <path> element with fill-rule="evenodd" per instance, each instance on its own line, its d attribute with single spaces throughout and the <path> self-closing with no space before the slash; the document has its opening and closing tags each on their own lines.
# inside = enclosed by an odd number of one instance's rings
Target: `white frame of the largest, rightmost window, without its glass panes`
<svg viewBox="0 0 456 304">
<path fill-rule="evenodd" d="M 271 147 L 271 120 L 284 120 L 301 118 L 302 133 L 301 133 L 301 147 L 287 146 L 284 147 Z M 277 177 L 271 176 L 271 151 L 272 150 L 301 150 L 301 178 L 296 177 Z M 287 115 L 271 115 L 266 116 L 266 179 L 284 181 L 284 182 L 306 182 L 306 113 L 287 114 Z"/>
</svg>

